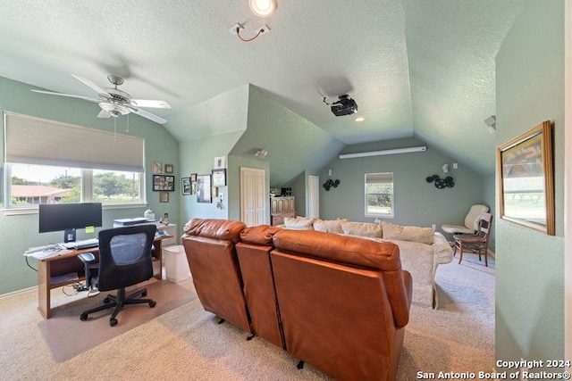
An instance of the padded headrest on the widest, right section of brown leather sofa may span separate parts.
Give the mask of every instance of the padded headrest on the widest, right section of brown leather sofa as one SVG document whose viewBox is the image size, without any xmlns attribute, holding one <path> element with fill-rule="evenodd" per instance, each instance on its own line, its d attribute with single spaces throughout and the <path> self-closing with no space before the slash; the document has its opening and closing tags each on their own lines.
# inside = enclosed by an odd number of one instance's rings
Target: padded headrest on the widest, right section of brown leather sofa
<svg viewBox="0 0 572 381">
<path fill-rule="evenodd" d="M 281 229 L 274 234 L 273 244 L 284 251 L 327 261 L 383 271 L 401 269 L 400 249 L 390 242 L 315 230 Z"/>
</svg>

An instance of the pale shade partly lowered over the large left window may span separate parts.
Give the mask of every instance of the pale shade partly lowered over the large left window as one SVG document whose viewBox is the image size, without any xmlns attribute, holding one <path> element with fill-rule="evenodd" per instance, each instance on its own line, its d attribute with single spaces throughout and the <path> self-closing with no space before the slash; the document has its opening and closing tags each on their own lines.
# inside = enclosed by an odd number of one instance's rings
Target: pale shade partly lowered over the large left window
<svg viewBox="0 0 572 381">
<path fill-rule="evenodd" d="M 4 112 L 4 160 L 97 170 L 144 171 L 145 139 Z"/>
</svg>

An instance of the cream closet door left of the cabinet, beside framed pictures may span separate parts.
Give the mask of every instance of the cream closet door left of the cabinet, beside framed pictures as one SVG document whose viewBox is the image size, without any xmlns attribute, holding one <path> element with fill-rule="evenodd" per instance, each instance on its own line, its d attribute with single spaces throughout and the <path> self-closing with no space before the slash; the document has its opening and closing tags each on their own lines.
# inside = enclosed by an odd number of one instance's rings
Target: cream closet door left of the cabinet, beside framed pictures
<svg viewBox="0 0 572 381">
<path fill-rule="evenodd" d="M 240 220 L 248 227 L 266 223 L 266 172 L 240 167 Z"/>
</svg>

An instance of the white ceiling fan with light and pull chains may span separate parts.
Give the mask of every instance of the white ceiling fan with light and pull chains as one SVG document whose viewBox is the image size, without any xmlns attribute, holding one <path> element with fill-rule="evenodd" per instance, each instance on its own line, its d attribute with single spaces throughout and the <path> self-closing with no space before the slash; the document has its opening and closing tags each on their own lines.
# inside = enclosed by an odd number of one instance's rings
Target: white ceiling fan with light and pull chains
<svg viewBox="0 0 572 381">
<path fill-rule="evenodd" d="M 113 75 L 107 76 L 107 79 L 109 79 L 109 82 L 111 82 L 112 85 L 114 85 L 114 87 L 102 88 L 98 87 L 95 83 L 93 83 L 89 79 L 81 78 L 80 76 L 77 76 L 75 74 L 71 74 L 71 76 L 75 79 L 78 79 L 84 85 L 95 90 L 97 92 L 98 98 L 90 98 L 88 96 L 82 96 L 82 95 L 55 93 L 52 91 L 44 91 L 36 89 L 32 89 L 32 91 L 36 93 L 49 94 L 49 95 L 70 96 L 71 98 L 80 98 L 89 102 L 93 102 L 95 104 L 99 104 L 99 107 L 101 107 L 101 112 L 97 114 L 97 118 L 109 118 L 110 116 L 118 118 L 122 115 L 126 115 L 130 112 L 133 112 L 138 114 L 139 116 L 142 116 L 143 118 L 147 118 L 148 120 L 153 120 L 159 124 L 164 124 L 167 122 L 167 120 L 151 112 L 147 112 L 141 109 L 141 107 L 170 109 L 171 104 L 168 104 L 165 101 L 158 101 L 158 100 L 132 99 L 131 95 L 117 88 L 123 83 L 123 79 L 121 77 Z"/>
</svg>

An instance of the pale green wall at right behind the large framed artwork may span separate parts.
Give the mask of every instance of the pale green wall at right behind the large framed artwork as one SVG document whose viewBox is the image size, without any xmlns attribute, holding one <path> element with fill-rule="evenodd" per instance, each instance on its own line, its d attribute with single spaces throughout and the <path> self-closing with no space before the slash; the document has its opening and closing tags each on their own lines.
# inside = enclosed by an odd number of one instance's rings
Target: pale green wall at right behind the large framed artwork
<svg viewBox="0 0 572 381">
<path fill-rule="evenodd" d="M 497 217 L 495 355 L 563 359 L 564 2 L 529 1 L 496 66 L 497 145 L 543 120 L 554 124 L 557 235 Z"/>
</svg>

